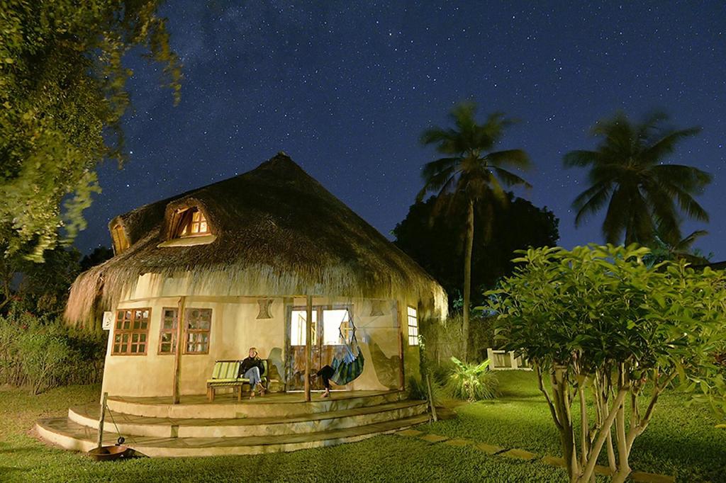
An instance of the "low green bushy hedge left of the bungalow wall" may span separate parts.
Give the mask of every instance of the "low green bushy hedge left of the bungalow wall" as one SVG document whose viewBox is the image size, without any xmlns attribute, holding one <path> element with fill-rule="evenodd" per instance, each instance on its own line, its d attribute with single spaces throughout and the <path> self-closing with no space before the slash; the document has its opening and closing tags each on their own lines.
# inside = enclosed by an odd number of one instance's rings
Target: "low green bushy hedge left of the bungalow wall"
<svg viewBox="0 0 726 483">
<path fill-rule="evenodd" d="M 0 316 L 0 384 L 33 394 L 102 379 L 105 335 L 69 329 L 28 312 Z"/>
</svg>

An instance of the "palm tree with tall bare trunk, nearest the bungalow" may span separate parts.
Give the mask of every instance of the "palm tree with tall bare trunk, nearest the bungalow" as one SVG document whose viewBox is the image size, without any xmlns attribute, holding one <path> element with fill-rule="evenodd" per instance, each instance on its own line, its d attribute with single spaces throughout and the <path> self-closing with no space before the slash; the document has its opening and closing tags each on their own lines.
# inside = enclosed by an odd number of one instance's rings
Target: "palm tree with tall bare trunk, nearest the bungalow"
<svg viewBox="0 0 726 483">
<path fill-rule="evenodd" d="M 464 249 L 464 358 L 468 360 L 469 305 L 471 300 L 471 252 L 474 241 L 474 208 L 485 209 L 492 202 L 506 202 L 502 185 L 530 186 L 529 183 L 507 170 L 508 167 L 529 168 L 529 157 L 521 149 L 492 152 L 502 138 L 505 128 L 514 123 L 502 112 L 494 112 L 483 124 L 475 119 L 476 104 L 462 102 L 451 112 L 454 128 L 433 127 L 421 136 L 423 144 L 435 144 L 443 154 L 438 160 L 423 167 L 423 189 L 417 200 L 434 191 L 441 203 L 450 207 L 457 202 L 467 205 L 467 223 Z M 489 231 L 488 227 L 486 232 Z M 485 234 L 489 236 L 489 233 Z"/>
</svg>

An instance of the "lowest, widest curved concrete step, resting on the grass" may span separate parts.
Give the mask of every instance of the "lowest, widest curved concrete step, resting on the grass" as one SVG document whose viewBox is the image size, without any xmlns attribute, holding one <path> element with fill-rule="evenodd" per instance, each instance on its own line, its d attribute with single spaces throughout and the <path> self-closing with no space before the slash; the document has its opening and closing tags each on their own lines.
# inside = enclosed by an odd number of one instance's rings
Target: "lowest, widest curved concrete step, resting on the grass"
<svg viewBox="0 0 726 483">
<path fill-rule="evenodd" d="M 396 432 L 426 421 L 428 421 L 428 415 L 420 414 L 394 421 L 301 434 L 176 438 L 134 436 L 126 438 L 126 445 L 138 453 L 151 457 L 253 455 L 339 445 L 373 437 L 377 434 Z M 68 450 L 88 451 L 96 446 L 97 431 L 89 426 L 76 424 L 68 418 L 41 419 L 36 424 L 36 430 L 46 441 L 60 445 Z M 105 445 L 113 445 L 118 438 L 115 431 L 105 432 L 104 434 Z"/>
</svg>

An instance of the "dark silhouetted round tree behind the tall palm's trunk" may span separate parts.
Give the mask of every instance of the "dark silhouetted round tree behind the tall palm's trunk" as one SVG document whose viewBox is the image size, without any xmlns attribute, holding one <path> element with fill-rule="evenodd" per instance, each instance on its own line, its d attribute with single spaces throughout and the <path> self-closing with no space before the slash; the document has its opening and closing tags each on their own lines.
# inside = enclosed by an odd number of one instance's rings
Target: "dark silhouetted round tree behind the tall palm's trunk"
<svg viewBox="0 0 726 483">
<path fill-rule="evenodd" d="M 449 302 L 460 300 L 464 278 L 464 242 L 468 203 L 451 194 L 431 197 L 409 207 L 406 218 L 393 228 L 393 243 L 431 273 L 449 293 Z M 497 236 L 486 238 L 475 231 L 471 254 L 472 304 L 484 302 L 481 293 L 497 280 L 512 273 L 515 250 L 552 246 L 559 239 L 558 218 L 547 207 L 506 193 L 505 205 L 495 203 L 491 210 L 475 207 L 474 225 L 491 226 Z M 448 216 L 436 216 L 446 205 Z"/>
</svg>

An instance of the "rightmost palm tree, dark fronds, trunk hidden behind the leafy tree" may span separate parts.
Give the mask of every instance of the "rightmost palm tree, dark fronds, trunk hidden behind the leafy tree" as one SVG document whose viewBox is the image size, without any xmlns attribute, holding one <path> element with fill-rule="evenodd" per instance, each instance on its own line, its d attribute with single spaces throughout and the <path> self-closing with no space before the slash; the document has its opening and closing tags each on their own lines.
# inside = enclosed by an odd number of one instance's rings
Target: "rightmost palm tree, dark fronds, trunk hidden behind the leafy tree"
<svg viewBox="0 0 726 483">
<path fill-rule="evenodd" d="M 698 168 L 664 164 L 678 142 L 696 135 L 700 128 L 669 129 L 662 112 L 631 123 L 618 112 L 600 120 L 592 135 L 602 138 L 594 151 L 572 151 L 566 167 L 590 168 L 590 187 L 573 202 L 575 226 L 605 205 L 603 235 L 608 243 L 652 244 L 659 234 L 669 244 L 681 239 L 680 212 L 688 218 L 708 221 L 709 215 L 693 196 L 711 182 Z"/>
</svg>

